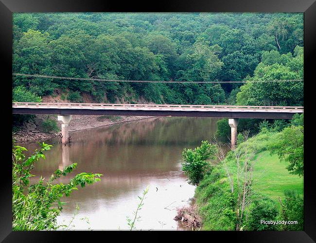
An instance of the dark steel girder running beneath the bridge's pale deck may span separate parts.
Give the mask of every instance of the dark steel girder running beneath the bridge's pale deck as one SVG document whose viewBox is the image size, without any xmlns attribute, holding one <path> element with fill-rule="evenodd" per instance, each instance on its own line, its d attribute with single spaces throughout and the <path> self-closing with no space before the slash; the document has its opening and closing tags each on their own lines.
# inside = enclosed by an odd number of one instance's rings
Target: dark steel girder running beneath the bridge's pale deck
<svg viewBox="0 0 316 243">
<path fill-rule="evenodd" d="M 118 110 L 118 109 L 54 109 L 12 108 L 13 114 L 58 114 L 58 115 L 114 115 L 114 116 L 160 116 L 160 117 L 218 117 L 291 119 L 293 112 L 238 112 L 238 111 L 165 111 L 165 110 Z"/>
</svg>

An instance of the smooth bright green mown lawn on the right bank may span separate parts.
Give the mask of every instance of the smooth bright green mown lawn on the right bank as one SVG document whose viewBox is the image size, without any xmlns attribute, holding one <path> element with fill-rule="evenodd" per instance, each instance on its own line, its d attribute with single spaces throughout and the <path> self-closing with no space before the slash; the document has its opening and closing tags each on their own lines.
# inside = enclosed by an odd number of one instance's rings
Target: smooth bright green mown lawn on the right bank
<svg viewBox="0 0 316 243">
<path fill-rule="evenodd" d="M 284 190 L 296 190 L 303 194 L 303 177 L 289 174 L 286 162 L 280 162 L 277 155 L 270 156 L 264 151 L 257 155 L 253 178 L 254 189 L 260 191 L 279 202 L 284 198 Z"/>
</svg>

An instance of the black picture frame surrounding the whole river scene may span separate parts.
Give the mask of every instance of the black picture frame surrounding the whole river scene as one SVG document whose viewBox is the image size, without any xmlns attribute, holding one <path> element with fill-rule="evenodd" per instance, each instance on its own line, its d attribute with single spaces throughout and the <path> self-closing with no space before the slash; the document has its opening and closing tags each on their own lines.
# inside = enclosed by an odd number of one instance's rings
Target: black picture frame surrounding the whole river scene
<svg viewBox="0 0 316 243">
<path fill-rule="evenodd" d="M 0 47 L 1 47 L 1 85 L 3 92 L 8 96 L 2 99 L 1 120 L 3 127 L 12 126 L 12 96 L 9 88 L 12 87 L 12 13 L 14 12 L 302 12 L 304 13 L 304 110 L 305 110 L 305 134 L 304 134 L 304 230 L 303 231 L 199 231 L 177 232 L 176 234 L 211 234 L 204 235 L 211 241 L 216 238 L 226 240 L 230 238 L 234 242 L 279 242 L 279 243 L 312 243 L 316 241 L 316 190 L 314 182 L 315 165 L 313 159 L 313 146 L 315 131 L 313 125 L 313 60 L 316 44 L 316 2 L 315 0 L 168 0 L 156 2 L 120 2 L 108 0 L 0 0 Z M 315 69 L 315 68 L 314 68 Z M 2 93 L 2 92 L 1 92 Z M 2 97 L 3 93 L 2 93 Z M 6 113 L 6 114 L 5 114 Z M 1 160 L 1 199 L 0 199 L 0 241 L 3 242 L 59 242 L 65 234 L 71 237 L 82 237 L 82 231 L 12 231 L 12 166 L 10 150 L 12 133 L 11 129 L 4 128 L 2 141 L 8 147 L 1 150 L 5 155 Z M 4 139 L 5 138 L 5 139 Z M 154 233 L 155 232 L 155 233 Z M 95 235 L 96 232 L 85 231 Z M 98 232 L 100 233 L 100 231 Z M 101 231 L 102 233 L 102 231 Z M 116 233 L 116 239 L 120 239 L 128 232 Z M 131 234 L 138 234 L 139 231 Z M 161 233 L 161 232 L 158 232 Z M 150 231 L 146 234 L 157 234 Z M 63 235 L 63 238 L 60 236 Z M 196 236 L 197 236 L 196 235 Z M 126 235 L 125 235 L 126 236 Z M 152 237 L 151 235 L 147 235 Z M 194 236 L 194 237 L 196 237 Z M 90 236 L 89 236 L 90 237 Z M 128 236 L 129 237 L 129 236 Z M 182 235 L 176 236 L 177 240 L 187 240 Z M 216 238 L 215 238 L 216 237 Z M 219 237 L 219 238 L 218 238 Z M 150 239 L 150 238 L 149 238 Z M 208 238 L 204 238 L 208 239 Z M 91 238 L 91 240 L 97 240 Z M 106 238 L 108 240 L 108 238 Z M 144 238 L 148 240 L 148 238 Z M 197 238 L 197 240 L 199 240 Z"/>
</svg>

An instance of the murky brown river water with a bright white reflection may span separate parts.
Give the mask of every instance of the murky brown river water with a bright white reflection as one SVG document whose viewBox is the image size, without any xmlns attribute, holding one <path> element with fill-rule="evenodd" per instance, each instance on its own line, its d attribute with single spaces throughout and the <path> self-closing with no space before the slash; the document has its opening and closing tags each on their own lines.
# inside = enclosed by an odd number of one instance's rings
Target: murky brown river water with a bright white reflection
<svg viewBox="0 0 316 243">
<path fill-rule="evenodd" d="M 79 188 L 63 200 L 67 204 L 57 221 L 69 225 L 68 229 L 128 229 L 126 216 L 133 219 L 138 196 L 149 187 L 136 230 L 186 230 L 174 217 L 176 208 L 190 204 L 195 187 L 181 171 L 181 153 L 199 146 L 201 140 L 210 140 L 216 121 L 160 117 L 72 132 L 70 145 L 57 139 L 46 141 L 53 147 L 33 174 L 48 178 L 71 163 L 78 163 L 77 169 L 58 182 L 67 183 L 81 172 L 104 174 L 100 182 Z M 38 148 L 36 143 L 23 146 L 29 153 Z"/>
</svg>

